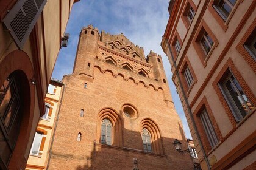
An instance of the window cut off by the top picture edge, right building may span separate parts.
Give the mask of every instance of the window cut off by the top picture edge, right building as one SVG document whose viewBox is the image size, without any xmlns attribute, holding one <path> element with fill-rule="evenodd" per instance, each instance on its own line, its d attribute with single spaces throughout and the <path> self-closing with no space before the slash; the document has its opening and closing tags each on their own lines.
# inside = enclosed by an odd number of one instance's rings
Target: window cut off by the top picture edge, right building
<svg viewBox="0 0 256 170">
<path fill-rule="evenodd" d="M 221 18 L 226 21 L 235 3 L 236 0 L 218 0 L 213 2 L 213 8 L 218 12 Z"/>
</svg>

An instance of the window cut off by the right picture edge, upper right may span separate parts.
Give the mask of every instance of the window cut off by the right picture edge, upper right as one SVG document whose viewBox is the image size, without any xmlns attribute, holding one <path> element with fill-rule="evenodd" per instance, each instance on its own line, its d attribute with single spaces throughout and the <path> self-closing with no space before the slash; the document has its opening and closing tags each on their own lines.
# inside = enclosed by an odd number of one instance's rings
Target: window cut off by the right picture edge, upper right
<svg viewBox="0 0 256 170">
<path fill-rule="evenodd" d="M 244 48 L 252 56 L 254 61 L 256 61 L 256 28 L 254 28 L 251 35 L 244 43 Z"/>
</svg>

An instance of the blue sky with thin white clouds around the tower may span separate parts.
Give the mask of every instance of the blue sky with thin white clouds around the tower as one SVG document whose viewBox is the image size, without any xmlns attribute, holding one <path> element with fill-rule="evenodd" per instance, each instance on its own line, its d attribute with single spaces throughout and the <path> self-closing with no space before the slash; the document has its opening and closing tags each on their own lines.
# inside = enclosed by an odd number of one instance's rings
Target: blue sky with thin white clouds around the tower
<svg viewBox="0 0 256 170">
<path fill-rule="evenodd" d="M 93 24 L 99 32 L 105 30 L 113 35 L 124 33 L 134 44 L 144 47 L 145 55 L 153 50 L 162 56 L 177 113 L 182 119 L 186 137 L 191 138 L 180 99 L 171 80 L 172 73 L 168 58 L 160 46 L 169 18 L 168 2 L 168 0 L 82 0 L 77 2 L 73 5 L 66 27 L 66 33 L 70 33 L 68 47 L 60 49 L 52 78 L 62 80 L 63 75 L 72 73 L 82 27 Z"/>
</svg>

